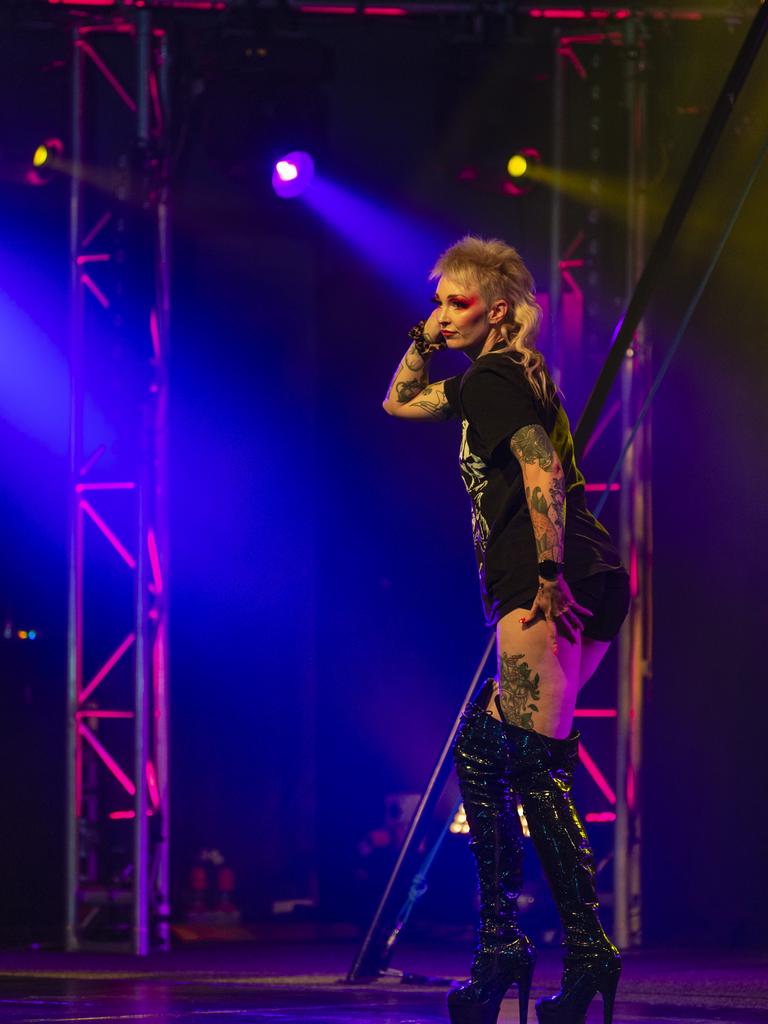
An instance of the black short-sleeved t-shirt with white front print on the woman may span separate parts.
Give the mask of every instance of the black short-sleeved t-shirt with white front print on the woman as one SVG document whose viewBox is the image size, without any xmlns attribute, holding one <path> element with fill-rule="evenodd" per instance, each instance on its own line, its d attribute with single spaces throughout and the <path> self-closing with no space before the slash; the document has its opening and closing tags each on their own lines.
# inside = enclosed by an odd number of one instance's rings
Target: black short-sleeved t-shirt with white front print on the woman
<svg viewBox="0 0 768 1024">
<path fill-rule="evenodd" d="M 520 464 L 509 439 L 521 427 L 541 424 L 565 475 L 565 579 L 572 584 L 620 568 L 608 531 L 587 509 L 584 477 L 573 458 L 573 438 L 559 397 L 540 401 L 514 356 L 483 355 L 444 382 L 445 398 L 462 420 L 459 453 L 472 503 L 474 539 L 485 620 L 495 625 L 513 608 L 528 606 L 539 585 L 536 539 Z"/>
</svg>

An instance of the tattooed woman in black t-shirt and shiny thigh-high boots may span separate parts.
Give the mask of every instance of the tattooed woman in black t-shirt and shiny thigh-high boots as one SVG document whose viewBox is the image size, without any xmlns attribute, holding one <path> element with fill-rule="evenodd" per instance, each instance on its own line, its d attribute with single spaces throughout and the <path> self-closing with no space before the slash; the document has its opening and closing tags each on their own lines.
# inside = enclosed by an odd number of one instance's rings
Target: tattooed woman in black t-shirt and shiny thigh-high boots
<svg viewBox="0 0 768 1024">
<path fill-rule="evenodd" d="M 412 344 L 384 409 L 462 422 L 460 467 L 498 678 L 464 712 L 454 749 L 480 889 L 468 982 L 449 994 L 453 1024 L 495 1024 L 518 987 L 527 1019 L 536 950 L 520 931 L 522 804 L 563 928 L 562 984 L 537 1004 L 544 1024 L 583 1024 L 602 994 L 612 1020 L 621 957 L 600 925 L 592 851 L 570 799 L 579 760 L 577 694 L 627 614 L 629 580 L 588 511 L 565 411 L 536 347 L 541 309 L 517 252 L 467 237 L 431 274 L 435 308 Z M 465 374 L 429 383 L 432 355 L 463 351 Z"/>
</svg>

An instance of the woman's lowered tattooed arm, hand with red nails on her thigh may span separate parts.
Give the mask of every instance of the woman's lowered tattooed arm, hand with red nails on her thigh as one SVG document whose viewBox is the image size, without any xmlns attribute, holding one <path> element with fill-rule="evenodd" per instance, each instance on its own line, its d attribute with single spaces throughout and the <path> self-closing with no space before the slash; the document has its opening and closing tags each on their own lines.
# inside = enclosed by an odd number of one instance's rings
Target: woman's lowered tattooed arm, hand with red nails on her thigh
<svg viewBox="0 0 768 1024">
<path fill-rule="evenodd" d="M 547 431 L 541 424 L 521 427 L 510 440 L 512 453 L 520 463 L 525 485 L 525 500 L 536 539 L 540 562 L 565 560 L 565 477 Z M 539 578 L 539 592 L 525 625 L 544 615 L 550 628 L 552 649 L 557 654 L 557 631 L 571 643 L 584 629 L 580 615 L 591 615 L 589 608 L 577 604 L 564 577 Z"/>
</svg>

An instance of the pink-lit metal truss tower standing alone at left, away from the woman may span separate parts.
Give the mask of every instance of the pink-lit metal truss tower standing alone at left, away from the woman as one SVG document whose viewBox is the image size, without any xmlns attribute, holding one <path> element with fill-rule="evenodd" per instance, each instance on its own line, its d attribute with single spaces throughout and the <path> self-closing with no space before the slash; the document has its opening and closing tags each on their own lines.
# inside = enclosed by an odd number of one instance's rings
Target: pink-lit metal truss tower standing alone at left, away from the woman
<svg viewBox="0 0 768 1024">
<path fill-rule="evenodd" d="M 72 20 L 67 936 L 169 943 L 168 44 Z"/>
</svg>

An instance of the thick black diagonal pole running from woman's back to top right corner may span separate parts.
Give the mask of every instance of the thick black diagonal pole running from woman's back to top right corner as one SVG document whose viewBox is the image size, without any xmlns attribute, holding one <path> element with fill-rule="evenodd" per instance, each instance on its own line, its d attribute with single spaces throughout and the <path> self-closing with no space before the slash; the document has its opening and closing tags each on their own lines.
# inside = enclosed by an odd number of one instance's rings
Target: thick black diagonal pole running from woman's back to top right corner
<svg viewBox="0 0 768 1024">
<path fill-rule="evenodd" d="M 651 294 L 666 269 L 675 240 L 680 233 L 680 228 L 720 141 L 728 118 L 760 52 L 766 29 L 768 29 L 768 2 L 763 0 L 712 109 L 698 144 L 662 225 L 662 230 L 658 232 L 658 238 L 653 244 L 648 261 L 640 274 L 627 311 L 613 332 L 607 358 L 573 433 L 577 458 L 582 455 L 585 445 L 592 436 L 600 411 L 622 367 L 625 352 L 634 337 L 638 324 L 645 314 Z"/>
</svg>

